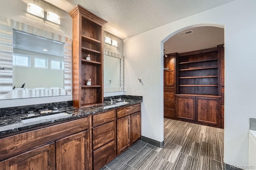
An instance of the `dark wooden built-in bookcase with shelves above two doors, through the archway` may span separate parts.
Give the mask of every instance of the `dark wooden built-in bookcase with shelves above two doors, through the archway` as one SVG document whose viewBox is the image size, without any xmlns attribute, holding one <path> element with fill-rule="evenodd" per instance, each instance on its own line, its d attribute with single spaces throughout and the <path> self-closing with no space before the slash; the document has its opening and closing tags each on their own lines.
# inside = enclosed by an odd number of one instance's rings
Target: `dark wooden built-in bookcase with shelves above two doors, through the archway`
<svg viewBox="0 0 256 170">
<path fill-rule="evenodd" d="M 177 54 L 175 96 L 175 119 L 223 127 L 223 44 Z"/>
</svg>

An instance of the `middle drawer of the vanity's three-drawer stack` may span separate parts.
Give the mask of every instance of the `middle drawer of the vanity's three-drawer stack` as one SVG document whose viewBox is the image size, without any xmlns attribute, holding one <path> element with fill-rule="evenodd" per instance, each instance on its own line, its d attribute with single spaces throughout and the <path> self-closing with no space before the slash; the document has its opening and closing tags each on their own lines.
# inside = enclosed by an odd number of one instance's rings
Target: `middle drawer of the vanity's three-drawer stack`
<svg viewBox="0 0 256 170">
<path fill-rule="evenodd" d="M 106 123 L 99 127 L 92 129 L 93 149 L 97 149 L 100 146 L 115 139 L 115 123 L 114 121 Z"/>
</svg>

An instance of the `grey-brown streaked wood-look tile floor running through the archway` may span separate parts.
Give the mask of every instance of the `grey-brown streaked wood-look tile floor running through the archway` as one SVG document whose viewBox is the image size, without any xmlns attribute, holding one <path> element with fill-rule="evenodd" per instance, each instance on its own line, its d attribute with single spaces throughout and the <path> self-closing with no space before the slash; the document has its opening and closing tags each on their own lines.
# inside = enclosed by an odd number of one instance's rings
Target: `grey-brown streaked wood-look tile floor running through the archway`
<svg viewBox="0 0 256 170">
<path fill-rule="evenodd" d="M 164 119 L 164 148 L 139 140 L 102 170 L 222 170 L 224 130 Z"/>
</svg>

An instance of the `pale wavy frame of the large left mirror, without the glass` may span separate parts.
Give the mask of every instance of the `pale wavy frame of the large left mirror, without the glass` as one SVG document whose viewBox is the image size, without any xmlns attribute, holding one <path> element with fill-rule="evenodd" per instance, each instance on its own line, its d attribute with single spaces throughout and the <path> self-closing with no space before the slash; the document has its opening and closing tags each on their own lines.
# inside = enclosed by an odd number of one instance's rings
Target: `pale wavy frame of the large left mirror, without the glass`
<svg viewBox="0 0 256 170">
<path fill-rule="evenodd" d="M 0 100 L 71 95 L 72 40 L 34 26 L 0 16 Z M 12 89 L 13 29 L 64 42 L 64 89 Z M 3 69 L 4 68 L 4 69 Z"/>
</svg>

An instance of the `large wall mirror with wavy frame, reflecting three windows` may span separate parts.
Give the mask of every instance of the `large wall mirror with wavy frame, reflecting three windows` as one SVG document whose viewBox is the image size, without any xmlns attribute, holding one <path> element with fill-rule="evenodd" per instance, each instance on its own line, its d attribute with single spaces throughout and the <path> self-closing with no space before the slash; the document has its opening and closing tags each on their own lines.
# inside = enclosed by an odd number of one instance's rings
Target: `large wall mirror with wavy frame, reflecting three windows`
<svg viewBox="0 0 256 170">
<path fill-rule="evenodd" d="M 71 95 L 72 40 L 0 16 L 0 99 Z"/>
</svg>

